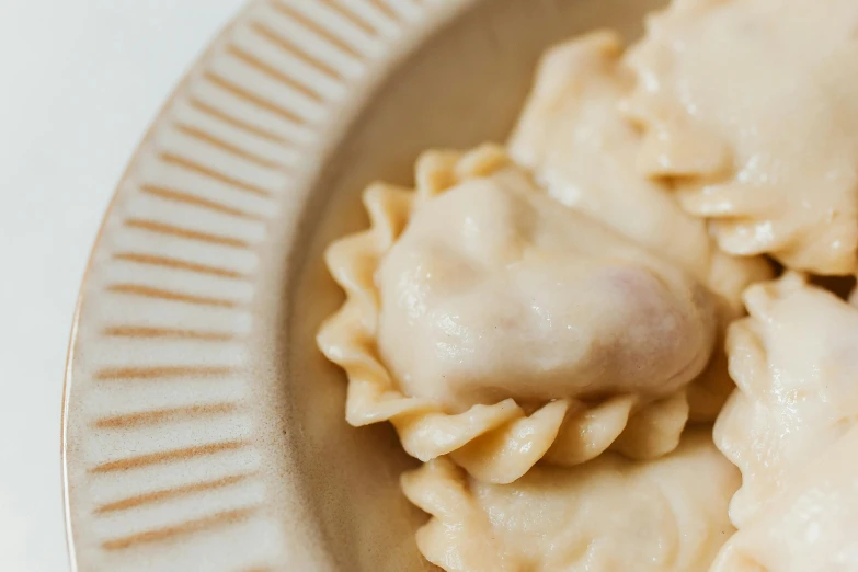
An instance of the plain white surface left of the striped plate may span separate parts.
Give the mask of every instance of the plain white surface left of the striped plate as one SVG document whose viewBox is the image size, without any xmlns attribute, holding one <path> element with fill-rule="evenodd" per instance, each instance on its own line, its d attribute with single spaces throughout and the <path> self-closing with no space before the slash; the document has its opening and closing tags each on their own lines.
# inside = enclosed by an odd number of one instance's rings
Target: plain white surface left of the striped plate
<svg viewBox="0 0 858 572">
<path fill-rule="evenodd" d="M 137 141 L 242 3 L 0 0 L 0 570 L 69 570 L 59 419 L 78 285 Z"/>
</svg>

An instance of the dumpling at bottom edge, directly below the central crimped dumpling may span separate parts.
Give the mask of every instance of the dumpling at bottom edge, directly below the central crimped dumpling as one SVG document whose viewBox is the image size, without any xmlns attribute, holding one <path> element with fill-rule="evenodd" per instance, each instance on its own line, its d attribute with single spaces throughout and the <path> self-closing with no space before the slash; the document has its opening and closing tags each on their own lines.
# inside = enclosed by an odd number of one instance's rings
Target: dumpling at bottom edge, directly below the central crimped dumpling
<svg viewBox="0 0 858 572">
<path fill-rule="evenodd" d="M 432 515 L 421 552 L 448 572 L 705 572 L 734 530 L 727 505 L 739 480 L 698 428 L 657 460 L 607 453 L 487 484 L 441 458 L 402 488 Z"/>
</svg>

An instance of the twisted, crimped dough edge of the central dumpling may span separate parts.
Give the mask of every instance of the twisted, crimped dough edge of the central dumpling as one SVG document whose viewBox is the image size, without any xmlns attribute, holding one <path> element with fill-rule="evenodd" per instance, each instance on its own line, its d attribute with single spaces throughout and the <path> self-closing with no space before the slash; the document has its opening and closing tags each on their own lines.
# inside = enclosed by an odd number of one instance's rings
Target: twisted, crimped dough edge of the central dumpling
<svg viewBox="0 0 858 572">
<path fill-rule="evenodd" d="M 474 478 L 494 483 L 515 481 L 540 459 L 577 465 L 609 447 L 632 458 L 673 450 L 688 417 L 685 390 L 655 402 L 636 396 L 596 405 L 558 399 L 531 412 L 505 399 L 450 414 L 438 403 L 404 396 L 381 363 L 375 284 L 380 260 L 421 202 L 510 167 L 506 151 L 492 144 L 465 153 L 427 151 L 416 162 L 415 190 L 370 185 L 363 197 L 369 229 L 329 247 L 325 262 L 346 300 L 322 324 L 317 341 L 348 377 L 346 421 L 355 426 L 390 421 L 411 456 L 425 462 L 449 455 Z"/>
</svg>

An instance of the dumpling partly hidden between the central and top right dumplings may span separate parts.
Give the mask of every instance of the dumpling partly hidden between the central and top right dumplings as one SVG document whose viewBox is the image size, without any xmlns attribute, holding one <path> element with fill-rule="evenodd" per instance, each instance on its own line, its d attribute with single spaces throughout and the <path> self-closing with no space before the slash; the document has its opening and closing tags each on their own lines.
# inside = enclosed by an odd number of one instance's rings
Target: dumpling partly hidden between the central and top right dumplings
<svg viewBox="0 0 858 572">
<path fill-rule="evenodd" d="M 721 252 L 703 220 L 686 214 L 663 183 L 636 171 L 641 136 L 618 108 L 634 78 L 621 54 L 619 36 L 607 31 L 550 49 L 510 139 L 510 153 L 553 198 L 706 285 L 719 302 L 723 330 L 743 311 L 744 288 L 768 278 L 770 268 L 762 259 Z M 693 419 L 712 421 L 732 387 L 719 348 L 689 387 Z"/>
</svg>

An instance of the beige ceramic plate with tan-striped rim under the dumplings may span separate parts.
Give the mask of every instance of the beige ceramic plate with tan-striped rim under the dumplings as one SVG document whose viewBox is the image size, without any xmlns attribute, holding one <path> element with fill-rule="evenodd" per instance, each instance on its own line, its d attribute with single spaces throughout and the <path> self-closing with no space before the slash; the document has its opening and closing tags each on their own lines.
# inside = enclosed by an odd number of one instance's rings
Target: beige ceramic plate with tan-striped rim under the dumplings
<svg viewBox="0 0 858 572">
<path fill-rule="evenodd" d="M 81 571 L 428 570 L 412 461 L 343 421 L 313 336 L 321 251 L 427 147 L 502 140 L 539 53 L 639 0 L 267 0 L 193 68 L 128 168 L 66 378 Z"/>
</svg>

